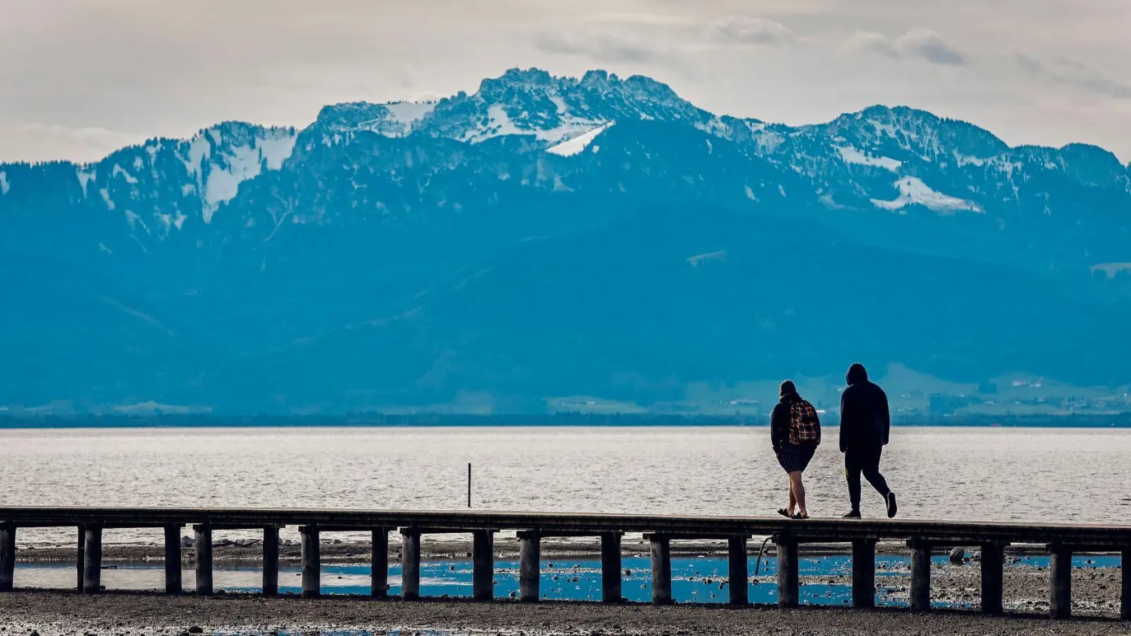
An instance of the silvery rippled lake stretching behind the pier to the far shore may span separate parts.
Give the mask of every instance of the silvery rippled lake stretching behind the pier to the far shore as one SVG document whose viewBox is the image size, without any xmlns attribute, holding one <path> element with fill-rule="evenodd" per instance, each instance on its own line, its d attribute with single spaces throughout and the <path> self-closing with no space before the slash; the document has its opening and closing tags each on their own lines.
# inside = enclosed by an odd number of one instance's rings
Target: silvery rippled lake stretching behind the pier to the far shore
<svg viewBox="0 0 1131 636">
<path fill-rule="evenodd" d="M 835 428 L 805 473 L 847 509 Z M 768 428 L 0 430 L 0 505 L 466 508 L 771 515 Z M 882 469 L 905 518 L 1128 523 L 1131 430 L 896 428 Z M 864 485 L 865 516 L 882 500 Z M 72 541 L 72 530 L 20 542 Z M 110 531 L 107 542 L 159 531 Z"/>
</svg>

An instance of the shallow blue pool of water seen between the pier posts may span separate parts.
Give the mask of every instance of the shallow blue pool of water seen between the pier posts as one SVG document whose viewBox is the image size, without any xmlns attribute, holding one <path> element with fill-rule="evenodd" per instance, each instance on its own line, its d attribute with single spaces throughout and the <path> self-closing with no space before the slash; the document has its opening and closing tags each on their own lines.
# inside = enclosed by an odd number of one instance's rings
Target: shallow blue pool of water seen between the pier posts
<svg viewBox="0 0 1131 636">
<path fill-rule="evenodd" d="M 763 559 L 759 577 L 754 578 L 757 557 L 750 559 L 750 601 L 753 603 L 777 602 L 777 560 Z M 935 557 L 938 566 L 944 566 L 946 557 Z M 1120 558 L 1113 556 L 1077 556 L 1076 567 L 1119 567 Z M 802 558 L 798 561 L 802 577 L 848 577 L 852 575 L 852 558 L 846 556 Z M 636 602 L 651 600 L 651 561 L 646 557 L 629 557 L 622 561 L 622 592 L 625 599 Z M 1047 557 L 1024 557 L 1011 567 L 1048 567 Z M 904 600 L 893 599 L 903 592 L 895 585 L 884 585 L 883 579 L 906 575 L 910 568 L 907 557 L 878 556 L 875 564 L 877 603 L 904 605 Z M 302 591 L 300 570 L 296 566 L 279 569 L 279 592 L 299 594 Z M 323 594 L 369 594 L 370 567 L 368 565 L 322 566 Z M 75 568 L 69 565 L 24 565 L 17 566 L 16 585 L 19 587 L 72 587 Z M 164 567 L 121 566 L 105 569 L 102 583 L 109 590 L 163 590 Z M 182 573 L 185 588 L 195 585 L 195 573 Z M 495 562 L 495 596 L 512 598 L 518 594 L 518 564 Z M 261 571 L 257 567 L 217 567 L 213 573 L 216 590 L 228 592 L 259 592 Z M 837 605 L 852 600 L 852 586 L 845 582 L 811 583 L 803 579 L 801 600 L 806 604 Z M 400 567 L 390 565 L 390 594 L 400 593 Z M 673 558 L 672 595 L 676 602 L 725 603 L 729 599 L 727 561 L 717 557 Z M 425 596 L 460 598 L 472 594 L 472 564 L 469 561 L 429 561 L 421 564 L 421 593 Z M 549 600 L 596 601 L 601 599 L 601 562 L 596 560 L 545 560 L 542 562 L 542 593 Z M 943 605 L 944 603 L 936 603 Z"/>
</svg>

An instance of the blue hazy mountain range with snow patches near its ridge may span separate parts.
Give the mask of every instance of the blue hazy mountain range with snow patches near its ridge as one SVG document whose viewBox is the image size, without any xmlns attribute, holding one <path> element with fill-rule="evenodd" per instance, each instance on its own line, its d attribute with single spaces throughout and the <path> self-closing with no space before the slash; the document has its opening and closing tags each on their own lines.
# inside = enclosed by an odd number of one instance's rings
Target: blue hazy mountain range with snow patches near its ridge
<svg viewBox="0 0 1131 636">
<path fill-rule="evenodd" d="M 0 405 L 694 412 L 854 361 L 1119 387 L 1129 226 L 1131 166 L 1096 146 L 512 69 L 0 164 Z"/>
</svg>

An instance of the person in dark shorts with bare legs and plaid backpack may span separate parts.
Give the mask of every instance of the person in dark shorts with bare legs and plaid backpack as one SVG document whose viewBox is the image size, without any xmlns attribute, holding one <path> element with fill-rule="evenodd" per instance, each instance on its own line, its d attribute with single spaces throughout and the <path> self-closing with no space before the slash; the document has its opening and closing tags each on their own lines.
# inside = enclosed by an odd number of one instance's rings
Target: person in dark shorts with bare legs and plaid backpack
<svg viewBox="0 0 1131 636">
<path fill-rule="evenodd" d="M 770 444 L 778 464 L 789 475 L 789 507 L 778 508 L 778 514 L 794 519 L 808 519 L 809 509 L 805 507 L 805 487 L 801 483 L 801 473 L 809 466 L 821 442 L 821 421 L 813 405 L 797 395 L 797 387 L 793 381 L 782 383 L 778 396 L 780 401 L 770 413 Z M 797 508 L 796 514 L 793 512 L 794 507 Z"/>
</svg>

